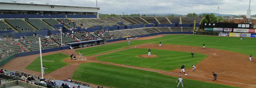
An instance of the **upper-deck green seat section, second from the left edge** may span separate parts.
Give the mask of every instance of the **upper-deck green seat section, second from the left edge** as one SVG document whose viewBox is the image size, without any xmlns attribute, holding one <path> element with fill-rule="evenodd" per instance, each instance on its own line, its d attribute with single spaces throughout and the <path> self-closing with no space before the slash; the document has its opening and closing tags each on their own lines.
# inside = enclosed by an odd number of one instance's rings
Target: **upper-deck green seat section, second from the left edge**
<svg viewBox="0 0 256 88">
<path fill-rule="evenodd" d="M 19 32 L 28 32 L 28 31 L 35 31 L 35 29 L 27 24 L 22 19 L 9 19 L 6 20 L 13 28 L 15 28 Z"/>
</svg>

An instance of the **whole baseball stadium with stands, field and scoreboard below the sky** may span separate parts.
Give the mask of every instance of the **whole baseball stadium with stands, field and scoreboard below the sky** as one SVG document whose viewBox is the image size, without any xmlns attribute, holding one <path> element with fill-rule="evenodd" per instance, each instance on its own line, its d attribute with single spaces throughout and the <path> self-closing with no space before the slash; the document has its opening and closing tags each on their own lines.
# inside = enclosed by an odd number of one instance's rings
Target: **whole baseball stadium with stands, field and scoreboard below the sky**
<svg viewBox="0 0 256 88">
<path fill-rule="evenodd" d="M 0 2 L 0 88 L 256 88 L 251 11 L 225 23 L 99 10 Z"/>
</svg>

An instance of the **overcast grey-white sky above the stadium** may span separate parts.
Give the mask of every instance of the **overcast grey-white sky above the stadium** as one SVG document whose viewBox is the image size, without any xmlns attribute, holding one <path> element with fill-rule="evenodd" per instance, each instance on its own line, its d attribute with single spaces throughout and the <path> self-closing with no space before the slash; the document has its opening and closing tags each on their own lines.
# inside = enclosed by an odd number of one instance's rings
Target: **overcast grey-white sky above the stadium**
<svg viewBox="0 0 256 88">
<path fill-rule="evenodd" d="M 11 0 L 0 0 L 11 2 Z M 18 3 L 37 3 L 96 7 L 96 0 L 13 0 Z M 246 15 L 249 0 L 98 0 L 99 13 L 103 14 L 181 14 L 218 13 Z M 256 0 L 251 0 L 252 13 L 256 14 Z"/>
</svg>

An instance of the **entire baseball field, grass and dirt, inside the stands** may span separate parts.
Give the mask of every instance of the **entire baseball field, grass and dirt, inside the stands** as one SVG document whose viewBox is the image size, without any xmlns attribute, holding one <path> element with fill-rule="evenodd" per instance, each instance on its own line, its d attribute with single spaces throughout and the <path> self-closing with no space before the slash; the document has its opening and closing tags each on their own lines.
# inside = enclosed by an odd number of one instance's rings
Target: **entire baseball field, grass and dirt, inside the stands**
<svg viewBox="0 0 256 88">
<path fill-rule="evenodd" d="M 48 68 L 45 76 L 109 88 L 173 88 L 180 76 L 185 88 L 256 87 L 256 70 L 251 69 L 256 63 L 254 58 L 249 61 L 250 54 L 256 55 L 255 38 L 157 35 L 130 42 L 43 53 L 43 65 Z M 151 56 L 147 56 L 148 49 Z M 87 61 L 70 60 L 71 54 L 78 58 L 78 52 Z M 188 75 L 180 73 L 182 65 Z M 195 72 L 191 65 L 197 67 Z M 39 54 L 15 58 L 2 68 L 40 75 Z M 218 75 L 216 81 L 212 81 L 213 71 Z"/>
</svg>

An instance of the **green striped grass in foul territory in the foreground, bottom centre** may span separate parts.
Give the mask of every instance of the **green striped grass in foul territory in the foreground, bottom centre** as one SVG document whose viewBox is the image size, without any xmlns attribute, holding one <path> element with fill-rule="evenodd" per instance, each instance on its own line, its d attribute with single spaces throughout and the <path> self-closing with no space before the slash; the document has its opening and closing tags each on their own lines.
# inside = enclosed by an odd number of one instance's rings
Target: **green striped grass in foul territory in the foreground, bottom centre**
<svg viewBox="0 0 256 88">
<path fill-rule="evenodd" d="M 99 63 L 80 64 L 71 79 L 110 88 L 175 88 L 178 84 L 177 77 Z M 183 79 L 183 85 L 184 88 L 237 88 L 189 79 Z"/>
</svg>

